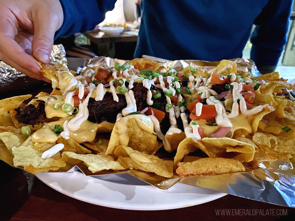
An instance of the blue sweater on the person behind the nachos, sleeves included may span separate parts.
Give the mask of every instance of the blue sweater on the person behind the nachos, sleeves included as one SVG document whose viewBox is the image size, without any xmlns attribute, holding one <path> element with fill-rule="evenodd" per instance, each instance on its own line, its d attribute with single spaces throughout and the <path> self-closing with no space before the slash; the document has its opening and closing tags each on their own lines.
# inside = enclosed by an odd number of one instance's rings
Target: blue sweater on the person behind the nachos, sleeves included
<svg viewBox="0 0 295 221">
<path fill-rule="evenodd" d="M 60 0 L 64 22 L 55 37 L 94 29 L 115 0 Z M 141 0 L 135 57 L 217 61 L 242 57 L 251 37 L 251 59 L 276 65 L 286 42 L 292 0 Z"/>
</svg>

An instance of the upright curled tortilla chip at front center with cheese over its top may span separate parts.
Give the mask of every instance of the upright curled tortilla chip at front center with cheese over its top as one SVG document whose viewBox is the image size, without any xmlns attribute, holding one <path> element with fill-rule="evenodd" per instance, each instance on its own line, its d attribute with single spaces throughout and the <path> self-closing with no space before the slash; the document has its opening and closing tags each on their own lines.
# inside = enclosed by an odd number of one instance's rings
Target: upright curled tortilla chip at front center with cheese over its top
<svg viewBox="0 0 295 221">
<path fill-rule="evenodd" d="M 128 141 L 127 139 L 129 138 L 128 144 L 127 143 L 126 144 L 130 146 L 132 149 L 145 152 L 148 154 L 154 154 L 159 149 L 159 146 L 157 143 L 157 136 L 151 133 L 148 133 L 147 131 L 140 128 L 135 118 L 132 118 L 131 116 L 138 117 L 138 115 L 126 116 L 126 117 L 129 117 L 127 122 L 124 122 L 124 127 L 126 123 L 126 128 L 127 128 L 127 131 L 126 132 L 124 131 L 124 133 L 126 133 L 127 137 L 124 136 L 123 141 L 126 142 Z M 115 126 L 111 134 L 111 138 L 109 141 L 109 145 L 106 150 L 106 154 L 112 154 L 114 149 L 120 144 L 122 144 L 121 143 L 122 141 L 120 142 L 119 133 L 117 131 L 119 130 L 118 129 L 119 127 L 121 128 L 123 126 L 123 125 L 121 126 L 119 125 L 122 121 L 125 121 L 126 117 L 121 118 L 119 121 L 115 123 Z M 151 126 L 153 126 L 153 122 L 150 119 L 150 117 L 145 115 L 140 115 L 140 119 L 142 119 L 142 121 L 147 122 Z"/>
</svg>

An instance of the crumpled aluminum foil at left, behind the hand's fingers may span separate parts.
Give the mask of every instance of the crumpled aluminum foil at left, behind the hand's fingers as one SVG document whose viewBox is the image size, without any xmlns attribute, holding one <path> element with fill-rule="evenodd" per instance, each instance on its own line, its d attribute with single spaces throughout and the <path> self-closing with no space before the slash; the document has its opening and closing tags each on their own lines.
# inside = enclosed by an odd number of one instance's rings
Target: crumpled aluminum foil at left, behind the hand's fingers
<svg viewBox="0 0 295 221">
<path fill-rule="evenodd" d="M 62 44 L 53 45 L 49 61 L 52 63 L 61 63 L 63 65 L 67 65 L 67 59 L 65 58 L 65 48 Z M 45 84 L 47 83 L 30 78 L 0 60 L 0 91 L 2 93 Z"/>
</svg>

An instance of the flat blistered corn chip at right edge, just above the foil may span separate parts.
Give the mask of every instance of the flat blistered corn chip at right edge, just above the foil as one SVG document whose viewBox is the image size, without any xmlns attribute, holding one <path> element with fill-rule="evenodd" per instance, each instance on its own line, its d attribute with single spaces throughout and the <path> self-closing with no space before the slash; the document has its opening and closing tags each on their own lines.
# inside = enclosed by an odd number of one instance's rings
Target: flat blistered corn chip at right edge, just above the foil
<svg viewBox="0 0 295 221">
<path fill-rule="evenodd" d="M 272 134 L 255 133 L 253 135 L 253 142 L 264 149 L 271 149 L 280 154 L 295 154 L 295 141 Z"/>
</svg>

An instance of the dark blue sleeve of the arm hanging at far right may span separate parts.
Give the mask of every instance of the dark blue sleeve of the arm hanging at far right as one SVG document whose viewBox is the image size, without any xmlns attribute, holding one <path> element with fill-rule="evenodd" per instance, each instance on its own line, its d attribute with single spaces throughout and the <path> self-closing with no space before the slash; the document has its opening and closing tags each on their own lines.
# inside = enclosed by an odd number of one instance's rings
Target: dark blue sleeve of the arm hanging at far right
<svg viewBox="0 0 295 221">
<path fill-rule="evenodd" d="M 286 43 L 292 0 L 269 0 L 254 20 L 251 59 L 256 65 L 276 65 Z"/>
</svg>

